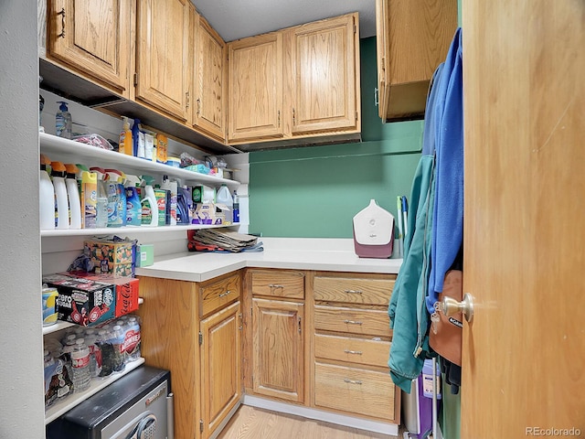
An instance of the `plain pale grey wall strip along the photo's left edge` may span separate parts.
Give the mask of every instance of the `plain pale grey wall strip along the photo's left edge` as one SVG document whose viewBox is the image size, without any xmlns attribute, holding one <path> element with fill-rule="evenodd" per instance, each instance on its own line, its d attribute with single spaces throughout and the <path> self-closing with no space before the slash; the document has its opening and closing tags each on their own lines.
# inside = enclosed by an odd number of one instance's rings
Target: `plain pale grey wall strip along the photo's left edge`
<svg viewBox="0 0 585 439">
<path fill-rule="evenodd" d="M 0 438 L 45 437 L 37 2 L 0 2 Z"/>
</svg>

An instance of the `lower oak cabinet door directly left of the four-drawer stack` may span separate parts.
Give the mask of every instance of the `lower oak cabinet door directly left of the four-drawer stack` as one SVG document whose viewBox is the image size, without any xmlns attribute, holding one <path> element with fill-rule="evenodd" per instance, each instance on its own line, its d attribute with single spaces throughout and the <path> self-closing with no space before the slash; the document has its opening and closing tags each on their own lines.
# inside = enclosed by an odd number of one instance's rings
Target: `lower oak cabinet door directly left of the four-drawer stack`
<svg viewBox="0 0 585 439">
<path fill-rule="evenodd" d="M 303 402 L 303 304 L 252 299 L 254 393 Z"/>
</svg>

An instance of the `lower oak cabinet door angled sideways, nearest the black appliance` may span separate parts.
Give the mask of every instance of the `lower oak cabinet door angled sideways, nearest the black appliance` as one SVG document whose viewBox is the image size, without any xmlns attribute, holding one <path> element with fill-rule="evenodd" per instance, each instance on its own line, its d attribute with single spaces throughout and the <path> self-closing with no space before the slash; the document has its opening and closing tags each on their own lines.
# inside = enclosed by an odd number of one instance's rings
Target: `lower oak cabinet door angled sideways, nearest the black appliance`
<svg viewBox="0 0 585 439">
<path fill-rule="evenodd" d="M 241 395 L 239 302 L 201 321 L 203 438 L 218 428 Z"/>
</svg>

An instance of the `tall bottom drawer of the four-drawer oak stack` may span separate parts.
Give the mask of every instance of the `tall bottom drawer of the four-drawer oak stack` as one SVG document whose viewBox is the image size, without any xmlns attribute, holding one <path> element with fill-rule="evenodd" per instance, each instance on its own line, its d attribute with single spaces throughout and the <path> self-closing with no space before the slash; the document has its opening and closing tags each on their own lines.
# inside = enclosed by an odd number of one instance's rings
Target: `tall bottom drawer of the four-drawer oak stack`
<svg viewBox="0 0 585 439">
<path fill-rule="evenodd" d="M 388 373 L 315 363 L 314 403 L 396 422 L 395 387 Z"/>
</svg>

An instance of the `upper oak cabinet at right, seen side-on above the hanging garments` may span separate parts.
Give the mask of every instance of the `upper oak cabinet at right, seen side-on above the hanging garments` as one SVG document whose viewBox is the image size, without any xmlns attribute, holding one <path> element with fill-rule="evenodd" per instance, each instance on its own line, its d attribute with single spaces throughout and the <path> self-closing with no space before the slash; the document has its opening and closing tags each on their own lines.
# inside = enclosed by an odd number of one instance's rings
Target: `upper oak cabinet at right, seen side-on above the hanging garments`
<svg viewBox="0 0 585 439">
<path fill-rule="evenodd" d="M 376 0 L 379 114 L 421 118 L 457 28 L 457 0 Z"/>
</svg>

